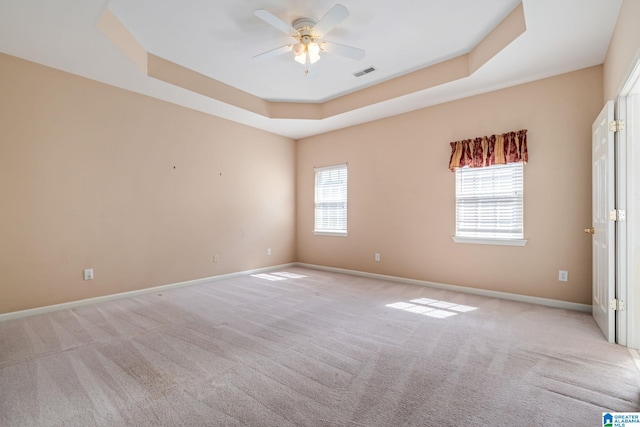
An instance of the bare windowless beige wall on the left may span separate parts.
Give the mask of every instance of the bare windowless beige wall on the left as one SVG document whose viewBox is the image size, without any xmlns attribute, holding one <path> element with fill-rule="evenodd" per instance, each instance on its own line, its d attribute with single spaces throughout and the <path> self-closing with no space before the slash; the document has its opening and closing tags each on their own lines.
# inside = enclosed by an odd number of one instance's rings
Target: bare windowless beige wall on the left
<svg viewBox="0 0 640 427">
<path fill-rule="evenodd" d="M 295 260 L 294 141 L 6 55 L 0 94 L 0 313 Z"/>
</svg>

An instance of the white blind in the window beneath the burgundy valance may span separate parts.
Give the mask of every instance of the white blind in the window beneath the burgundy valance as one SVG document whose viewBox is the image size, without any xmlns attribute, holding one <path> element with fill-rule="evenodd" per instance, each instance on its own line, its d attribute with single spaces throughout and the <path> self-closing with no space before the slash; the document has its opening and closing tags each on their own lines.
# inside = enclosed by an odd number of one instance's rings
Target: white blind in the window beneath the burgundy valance
<svg viewBox="0 0 640 427">
<path fill-rule="evenodd" d="M 523 238 L 522 163 L 456 169 L 456 237 Z"/>
</svg>

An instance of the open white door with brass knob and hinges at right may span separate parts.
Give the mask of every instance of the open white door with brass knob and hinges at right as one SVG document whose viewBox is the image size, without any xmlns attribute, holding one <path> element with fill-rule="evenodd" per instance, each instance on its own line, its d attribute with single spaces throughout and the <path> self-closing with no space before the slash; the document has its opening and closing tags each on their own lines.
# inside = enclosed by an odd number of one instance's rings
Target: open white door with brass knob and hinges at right
<svg viewBox="0 0 640 427">
<path fill-rule="evenodd" d="M 610 301 L 615 298 L 616 286 L 615 221 L 609 219 L 609 212 L 615 208 L 615 154 L 614 134 L 609 130 L 611 121 L 613 101 L 607 102 L 592 129 L 592 311 L 604 336 L 609 342 L 614 342 L 615 311 L 609 307 Z"/>
</svg>

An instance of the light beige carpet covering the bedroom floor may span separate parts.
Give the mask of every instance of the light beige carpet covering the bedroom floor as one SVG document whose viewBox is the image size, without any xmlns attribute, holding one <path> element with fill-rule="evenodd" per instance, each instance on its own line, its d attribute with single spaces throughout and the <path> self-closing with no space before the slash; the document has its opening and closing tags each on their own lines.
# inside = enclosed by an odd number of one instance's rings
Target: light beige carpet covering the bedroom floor
<svg viewBox="0 0 640 427">
<path fill-rule="evenodd" d="M 640 410 L 631 353 L 588 314 L 287 272 L 0 323 L 0 425 L 597 426 Z"/>
</svg>

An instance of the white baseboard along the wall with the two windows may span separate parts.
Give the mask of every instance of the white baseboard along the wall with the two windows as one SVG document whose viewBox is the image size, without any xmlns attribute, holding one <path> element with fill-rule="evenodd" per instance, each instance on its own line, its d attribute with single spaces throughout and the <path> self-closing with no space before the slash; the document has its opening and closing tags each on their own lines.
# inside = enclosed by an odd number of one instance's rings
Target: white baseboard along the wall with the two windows
<svg viewBox="0 0 640 427">
<path fill-rule="evenodd" d="M 506 299 L 511 301 L 544 305 L 547 307 L 565 308 L 568 310 L 591 313 L 591 306 L 588 304 L 579 304 L 575 302 L 560 301 L 560 300 L 554 300 L 549 298 L 532 297 L 528 295 L 511 294 L 508 292 L 490 291 L 487 289 L 469 288 L 466 286 L 447 285 L 444 283 L 428 282 L 426 280 L 407 279 L 404 277 L 387 276 L 384 274 L 367 273 L 364 271 L 347 270 L 343 268 L 325 267 L 322 265 L 305 264 L 301 262 L 298 262 L 295 265 L 297 265 L 298 267 L 311 268 L 315 270 L 325 270 L 325 271 L 331 271 L 334 273 L 351 274 L 354 276 L 362 276 L 362 277 L 368 277 L 372 279 L 381 279 L 381 280 L 388 280 L 391 282 L 408 283 L 412 285 L 427 286 L 430 288 L 444 289 L 444 290 L 455 291 L 455 292 L 463 292 L 467 294 L 480 295 L 480 296 L 485 296 L 490 298 L 500 298 L 500 299 Z"/>
</svg>

